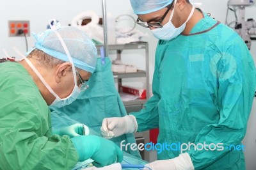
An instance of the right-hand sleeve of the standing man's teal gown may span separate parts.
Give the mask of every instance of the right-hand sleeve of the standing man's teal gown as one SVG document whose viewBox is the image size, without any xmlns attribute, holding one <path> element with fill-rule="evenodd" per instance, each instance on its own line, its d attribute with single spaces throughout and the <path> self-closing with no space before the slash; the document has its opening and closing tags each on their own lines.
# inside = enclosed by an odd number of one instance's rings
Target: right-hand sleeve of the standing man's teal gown
<svg viewBox="0 0 256 170">
<path fill-rule="evenodd" d="M 236 162 L 230 160 L 236 158 L 230 157 L 230 154 L 243 157 L 245 148 L 241 141 L 246 134 L 256 83 L 255 65 L 244 46 L 243 43 L 233 43 L 219 53 L 218 61 L 214 62 L 216 65 L 212 66 L 216 70 L 216 107 L 220 119 L 218 123 L 202 128 L 196 136 L 195 143 L 205 143 L 206 149 L 199 151 L 193 147 L 188 151 L 195 169 L 204 169 L 216 162 L 221 165 L 223 160 L 225 164 L 228 164 L 227 161 Z"/>
</svg>

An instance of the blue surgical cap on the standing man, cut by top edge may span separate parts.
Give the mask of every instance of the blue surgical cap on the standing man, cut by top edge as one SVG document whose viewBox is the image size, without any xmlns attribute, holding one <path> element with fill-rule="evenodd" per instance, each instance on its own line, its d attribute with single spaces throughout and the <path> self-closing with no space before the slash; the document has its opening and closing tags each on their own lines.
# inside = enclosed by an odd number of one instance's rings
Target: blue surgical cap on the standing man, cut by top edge
<svg viewBox="0 0 256 170">
<path fill-rule="evenodd" d="M 135 14 L 146 14 L 163 9 L 173 0 L 130 0 Z"/>
</svg>

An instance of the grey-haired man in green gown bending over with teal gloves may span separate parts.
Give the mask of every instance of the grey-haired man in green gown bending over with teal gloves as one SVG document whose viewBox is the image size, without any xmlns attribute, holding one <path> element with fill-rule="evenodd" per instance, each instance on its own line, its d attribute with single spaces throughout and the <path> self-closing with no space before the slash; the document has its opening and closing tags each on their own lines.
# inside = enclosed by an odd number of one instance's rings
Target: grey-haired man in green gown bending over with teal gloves
<svg viewBox="0 0 256 170">
<path fill-rule="evenodd" d="M 52 133 L 48 105 L 70 104 L 88 88 L 97 61 L 92 40 L 56 20 L 34 36 L 27 57 L 16 50 L 21 61 L 0 63 L 0 169 L 72 169 L 88 158 L 98 167 L 121 162 L 115 143 L 83 135 L 79 123 Z"/>
</svg>

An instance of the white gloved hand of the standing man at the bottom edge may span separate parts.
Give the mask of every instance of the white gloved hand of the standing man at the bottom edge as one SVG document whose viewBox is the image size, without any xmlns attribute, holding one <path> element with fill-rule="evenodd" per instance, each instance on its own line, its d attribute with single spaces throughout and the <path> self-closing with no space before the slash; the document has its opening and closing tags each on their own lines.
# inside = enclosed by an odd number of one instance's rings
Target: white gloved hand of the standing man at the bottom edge
<svg viewBox="0 0 256 170">
<path fill-rule="evenodd" d="M 143 170 L 148 170 L 150 167 L 152 170 L 194 170 L 193 163 L 188 153 L 182 153 L 179 157 L 175 157 L 167 160 L 156 160 L 149 164 L 146 164 Z"/>
</svg>

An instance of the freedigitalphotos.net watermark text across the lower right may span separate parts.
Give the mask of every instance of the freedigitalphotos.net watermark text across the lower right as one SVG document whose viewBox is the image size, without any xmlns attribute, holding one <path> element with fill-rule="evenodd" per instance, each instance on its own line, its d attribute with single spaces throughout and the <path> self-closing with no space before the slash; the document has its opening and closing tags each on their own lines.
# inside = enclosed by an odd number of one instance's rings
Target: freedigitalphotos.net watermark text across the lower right
<svg viewBox="0 0 256 170">
<path fill-rule="evenodd" d="M 223 143 L 210 143 L 210 144 L 206 144 L 204 143 L 127 143 L 124 144 L 125 140 L 123 140 L 120 143 L 120 148 L 121 150 L 132 150 L 132 151 L 143 151 L 143 150 L 147 150 L 147 151 L 154 151 L 156 150 L 157 153 L 161 153 L 162 151 L 180 151 L 180 153 L 184 153 L 186 151 L 190 151 L 190 150 L 195 150 L 195 151 L 223 151 L 223 150 L 234 150 L 234 151 L 245 151 L 245 146 L 243 144 L 230 144 L 229 146 L 225 146 Z"/>
</svg>

